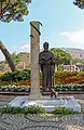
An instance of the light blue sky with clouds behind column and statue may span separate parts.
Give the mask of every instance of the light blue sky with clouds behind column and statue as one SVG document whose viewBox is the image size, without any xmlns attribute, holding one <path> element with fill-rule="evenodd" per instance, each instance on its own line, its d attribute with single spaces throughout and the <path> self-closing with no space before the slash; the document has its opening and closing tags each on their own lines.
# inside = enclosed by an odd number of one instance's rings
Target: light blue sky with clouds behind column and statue
<svg viewBox="0 0 84 130">
<path fill-rule="evenodd" d="M 43 25 L 40 28 L 41 49 L 45 41 L 50 48 L 84 49 L 84 10 L 73 5 L 73 0 L 32 0 L 29 15 L 24 18 L 23 23 L 0 22 L 0 40 L 11 53 L 30 50 L 31 21 L 39 21 Z"/>
</svg>

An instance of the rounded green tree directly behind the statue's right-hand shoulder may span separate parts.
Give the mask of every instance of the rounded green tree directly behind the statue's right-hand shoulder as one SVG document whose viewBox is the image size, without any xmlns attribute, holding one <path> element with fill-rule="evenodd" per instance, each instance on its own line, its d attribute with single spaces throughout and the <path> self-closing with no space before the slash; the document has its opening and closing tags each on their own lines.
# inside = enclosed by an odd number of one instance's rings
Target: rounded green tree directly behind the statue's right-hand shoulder
<svg viewBox="0 0 84 130">
<path fill-rule="evenodd" d="M 57 69 L 59 65 L 61 64 L 69 64 L 70 60 L 72 58 L 71 55 L 60 49 L 52 48 L 51 51 L 55 55 L 55 64 L 57 66 Z"/>
</svg>

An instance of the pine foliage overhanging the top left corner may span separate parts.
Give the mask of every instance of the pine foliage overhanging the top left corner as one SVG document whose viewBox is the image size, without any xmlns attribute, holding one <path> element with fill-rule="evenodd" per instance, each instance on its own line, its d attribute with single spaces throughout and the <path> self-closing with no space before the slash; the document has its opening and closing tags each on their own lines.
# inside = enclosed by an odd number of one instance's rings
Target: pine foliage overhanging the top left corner
<svg viewBox="0 0 84 130">
<path fill-rule="evenodd" d="M 2 22 L 23 22 L 24 15 L 28 15 L 28 3 L 31 0 L 0 0 L 0 20 Z"/>
</svg>

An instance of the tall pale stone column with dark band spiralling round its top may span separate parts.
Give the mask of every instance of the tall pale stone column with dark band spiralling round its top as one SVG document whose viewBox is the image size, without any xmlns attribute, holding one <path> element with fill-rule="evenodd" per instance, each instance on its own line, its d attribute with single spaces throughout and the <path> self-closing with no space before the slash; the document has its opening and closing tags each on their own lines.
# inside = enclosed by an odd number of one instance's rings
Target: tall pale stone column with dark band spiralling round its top
<svg viewBox="0 0 84 130">
<path fill-rule="evenodd" d="M 30 43 L 31 43 L 31 99 L 41 99 L 40 92 L 40 23 L 30 22 Z"/>
</svg>

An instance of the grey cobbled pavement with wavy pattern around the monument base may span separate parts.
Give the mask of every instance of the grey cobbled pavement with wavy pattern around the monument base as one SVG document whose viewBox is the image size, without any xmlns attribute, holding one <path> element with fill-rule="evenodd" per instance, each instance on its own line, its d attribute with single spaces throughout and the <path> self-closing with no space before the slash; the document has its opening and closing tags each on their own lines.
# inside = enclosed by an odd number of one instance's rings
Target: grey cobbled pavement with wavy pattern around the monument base
<svg viewBox="0 0 84 130">
<path fill-rule="evenodd" d="M 0 107 L 8 104 L 15 96 L 0 95 Z M 76 96 L 76 99 L 79 95 Z M 83 96 L 78 99 L 84 107 Z M 36 116 L 0 114 L 0 130 L 84 130 L 84 114 L 67 116 Z"/>
</svg>

